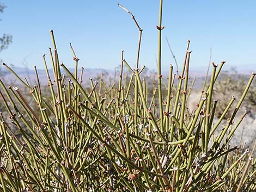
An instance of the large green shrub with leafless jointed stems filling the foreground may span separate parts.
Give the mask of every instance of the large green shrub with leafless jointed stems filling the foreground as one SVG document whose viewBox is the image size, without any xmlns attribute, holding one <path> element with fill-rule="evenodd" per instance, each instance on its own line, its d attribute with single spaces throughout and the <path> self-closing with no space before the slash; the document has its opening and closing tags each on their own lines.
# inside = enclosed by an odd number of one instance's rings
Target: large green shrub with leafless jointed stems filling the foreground
<svg viewBox="0 0 256 192">
<path fill-rule="evenodd" d="M 160 18 L 161 10 L 162 4 Z M 139 57 L 142 29 L 131 16 L 139 29 Z M 161 19 L 157 29 L 161 42 Z M 217 101 L 211 104 L 212 91 L 224 61 L 218 67 L 213 64 L 209 88 L 190 113 L 190 41 L 177 85 L 170 66 L 166 94 L 162 92 L 159 46 L 157 83 L 153 85 L 157 89 L 150 96 L 147 79 L 141 79 L 144 67 L 139 69 L 137 63 L 133 70 L 124 52 L 118 85 L 109 87 L 103 79 L 100 83 L 91 79 L 91 88 L 84 89 L 74 50 L 71 47 L 72 73 L 59 64 L 53 31 L 50 33 L 54 79 L 43 57 L 48 90 L 42 89 L 39 78 L 37 85 L 31 86 L 4 64 L 30 95 L 25 97 L 20 88 L 7 88 L 0 80 L 1 97 L 9 113 L 9 117 L 0 116 L 1 191 L 255 191 L 254 149 L 249 153 L 229 146 L 247 114 L 234 123 L 255 73 L 222 131 L 215 135 L 234 100 L 212 125 L 218 108 Z M 131 72 L 126 83 L 124 65 Z M 35 104 L 31 106 L 30 100 Z M 15 129 L 22 137 L 15 135 Z M 236 153 L 231 154 L 233 151 Z"/>
</svg>

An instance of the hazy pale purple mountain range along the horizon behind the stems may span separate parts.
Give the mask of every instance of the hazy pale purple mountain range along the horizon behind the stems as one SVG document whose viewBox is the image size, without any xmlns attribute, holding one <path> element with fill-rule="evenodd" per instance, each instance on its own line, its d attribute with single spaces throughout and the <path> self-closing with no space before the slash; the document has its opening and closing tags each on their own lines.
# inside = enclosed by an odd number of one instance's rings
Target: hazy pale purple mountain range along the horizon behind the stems
<svg viewBox="0 0 256 192">
<path fill-rule="evenodd" d="M 15 71 L 15 73 L 20 77 L 20 78 L 25 78 L 28 80 L 29 84 L 35 85 L 36 84 L 36 76 L 35 76 L 35 70 L 33 68 L 28 69 L 27 67 L 11 67 Z M 19 80 L 15 78 L 15 76 L 8 70 L 6 67 L 1 66 L 0 68 L 1 73 L 0 73 L 0 78 L 3 79 L 5 84 L 11 84 L 13 86 L 18 86 L 20 85 Z M 53 80 L 53 71 L 52 69 L 48 69 L 50 76 Z M 69 69 L 70 72 L 74 73 L 75 69 Z M 194 85 L 194 89 L 200 89 L 202 87 L 202 84 L 204 82 L 204 78 L 206 75 L 206 70 L 207 67 L 200 67 L 200 66 L 193 66 L 192 69 L 190 70 L 189 74 L 191 79 L 197 78 L 196 79 L 196 84 Z M 211 70 L 212 67 L 210 66 L 209 70 L 209 78 L 211 76 Z M 162 70 L 162 75 L 163 79 L 166 79 L 168 77 L 168 72 L 169 69 L 163 69 Z M 175 69 L 174 69 L 175 71 Z M 239 73 L 242 75 L 249 75 L 252 70 L 249 69 L 249 67 L 230 67 L 228 65 L 224 65 L 222 74 L 227 74 L 227 73 Z M 179 71 L 180 73 L 181 71 Z M 62 70 L 62 73 L 65 74 L 65 71 Z M 78 70 L 78 77 L 80 77 L 81 69 Z M 105 69 L 92 69 L 92 68 L 85 68 L 83 71 L 83 84 L 88 84 L 89 79 L 93 78 L 93 81 L 100 81 L 101 73 L 103 73 L 103 79 L 105 79 L 106 82 L 114 82 L 115 80 L 119 79 L 119 70 L 114 71 L 114 70 L 105 70 Z M 128 71 L 126 68 L 123 71 L 123 76 L 125 76 L 125 73 L 127 73 L 127 76 L 130 77 L 130 71 Z M 46 71 L 44 69 L 38 69 L 38 76 L 40 79 L 41 85 L 47 85 L 48 79 L 46 77 Z M 148 80 L 151 80 L 151 77 L 156 76 L 156 71 L 147 69 L 142 72 L 141 74 L 142 77 L 147 77 Z M 90 86 L 90 84 L 88 84 Z"/>
</svg>

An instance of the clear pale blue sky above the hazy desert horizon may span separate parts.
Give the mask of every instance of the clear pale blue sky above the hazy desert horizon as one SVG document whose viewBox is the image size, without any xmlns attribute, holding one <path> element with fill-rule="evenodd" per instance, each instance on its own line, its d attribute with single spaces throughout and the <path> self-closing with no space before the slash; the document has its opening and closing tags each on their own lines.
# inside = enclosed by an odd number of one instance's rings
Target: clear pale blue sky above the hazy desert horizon
<svg viewBox="0 0 256 192">
<path fill-rule="evenodd" d="M 17 1 L 0 0 L 7 8 L 0 14 L 0 35 L 13 35 L 13 44 L 0 58 L 15 66 L 43 68 L 54 30 L 60 61 L 73 67 L 69 42 L 86 68 L 114 69 L 125 59 L 135 66 L 138 29 L 122 4 L 143 29 L 140 65 L 156 69 L 159 1 Z M 182 65 L 187 39 L 191 40 L 191 66 L 203 69 L 212 61 L 227 61 L 226 69 L 255 70 L 256 1 L 163 1 L 162 66 L 174 64 L 165 36 Z M 50 63 L 48 63 L 51 66 Z"/>
</svg>

